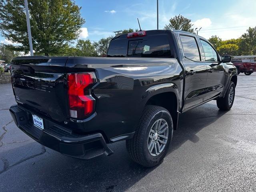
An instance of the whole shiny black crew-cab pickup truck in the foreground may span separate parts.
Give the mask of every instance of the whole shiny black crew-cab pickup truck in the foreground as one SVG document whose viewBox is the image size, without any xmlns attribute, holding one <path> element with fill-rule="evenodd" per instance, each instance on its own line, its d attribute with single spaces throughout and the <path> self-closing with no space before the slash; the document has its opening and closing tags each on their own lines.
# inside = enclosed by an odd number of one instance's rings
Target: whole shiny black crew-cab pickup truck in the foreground
<svg viewBox="0 0 256 192">
<path fill-rule="evenodd" d="M 26 56 L 11 62 L 16 125 L 74 158 L 113 151 L 152 167 L 167 153 L 178 116 L 210 100 L 234 102 L 236 67 L 204 38 L 178 30 L 115 36 L 106 58 Z"/>
</svg>

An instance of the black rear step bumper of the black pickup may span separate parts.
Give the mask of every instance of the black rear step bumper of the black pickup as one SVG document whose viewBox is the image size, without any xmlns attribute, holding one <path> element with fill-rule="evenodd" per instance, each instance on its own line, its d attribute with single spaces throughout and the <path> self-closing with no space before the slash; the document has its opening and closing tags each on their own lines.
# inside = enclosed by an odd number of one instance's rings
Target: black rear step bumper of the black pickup
<svg viewBox="0 0 256 192">
<path fill-rule="evenodd" d="M 28 136 L 40 144 L 74 158 L 90 159 L 113 151 L 108 148 L 100 133 L 81 135 L 44 119 L 44 129 L 41 130 L 32 123 L 32 113 L 29 110 L 14 105 L 10 113 L 15 124 Z"/>
</svg>

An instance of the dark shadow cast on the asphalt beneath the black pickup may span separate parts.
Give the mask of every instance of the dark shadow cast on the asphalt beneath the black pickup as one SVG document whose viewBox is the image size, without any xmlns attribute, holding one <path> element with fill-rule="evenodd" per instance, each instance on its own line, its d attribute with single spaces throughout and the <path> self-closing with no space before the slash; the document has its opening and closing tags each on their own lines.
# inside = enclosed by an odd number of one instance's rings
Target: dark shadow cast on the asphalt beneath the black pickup
<svg viewBox="0 0 256 192">
<path fill-rule="evenodd" d="M 196 134 L 224 114 L 225 112 L 220 112 L 213 103 L 204 104 L 182 114 L 178 130 L 174 131 L 172 146 L 167 158 L 169 159 L 169 156 L 173 155 L 172 152 L 178 150 L 186 141 L 198 142 L 200 137 Z M 20 148 L 29 150 L 32 148 L 31 145 L 36 144 L 38 143 L 33 142 Z M 125 191 L 132 186 L 136 187 L 139 181 L 147 185 L 147 180 L 155 180 L 155 175 L 162 174 L 166 170 L 163 164 L 154 168 L 144 168 L 133 162 L 126 152 L 124 141 L 109 146 L 115 152 L 112 156 L 100 156 L 86 161 L 63 156 L 46 148 L 44 154 L 22 162 L 0 174 L 0 179 L 3 181 L 2 187 L 4 187 L 4 181 L 12 180 L 12 175 L 15 173 L 16 177 L 18 174 L 19 182 L 13 183 L 12 187 L 23 188 L 27 191 Z M 20 149 L 13 150 L 13 154 L 18 154 Z M 175 166 L 169 166 L 166 171 L 171 173 L 173 170 Z"/>
</svg>

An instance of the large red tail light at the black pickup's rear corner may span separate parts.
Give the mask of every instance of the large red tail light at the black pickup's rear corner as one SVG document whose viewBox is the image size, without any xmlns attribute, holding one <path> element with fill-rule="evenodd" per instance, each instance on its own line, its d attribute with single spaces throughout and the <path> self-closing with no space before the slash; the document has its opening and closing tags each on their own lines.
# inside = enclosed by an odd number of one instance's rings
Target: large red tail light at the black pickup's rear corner
<svg viewBox="0 0 256 192">
<path fill-rule="evenodd" d="M 90 88 L 96 83 L 94 72 L 68 74 L 68 102 L 70 116 L 84 119 L 92 114 L 95 99 Z"/>
</svg>

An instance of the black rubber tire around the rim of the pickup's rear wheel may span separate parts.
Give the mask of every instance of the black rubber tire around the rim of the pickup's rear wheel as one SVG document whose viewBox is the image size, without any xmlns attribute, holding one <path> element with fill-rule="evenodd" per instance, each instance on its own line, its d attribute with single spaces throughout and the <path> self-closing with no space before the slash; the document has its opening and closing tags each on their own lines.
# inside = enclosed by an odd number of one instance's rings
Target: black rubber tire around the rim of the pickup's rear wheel
<svg viewBox="0 0 256 192">
<path fill-rule="evenodd" d="M 161 119 L 164 119 L 168 124 L 168 139 L 162 152 L 160 152 L 157 156 L 152 156 L 148 149 L 148 138 L 154 123 L 156 123 L 159 120 L 161 123 Z M 168 110 L 160 106 L 148 105 L 143 110 L 143 114 L 136 128 L 134 137 L 130 140 L 126 140 L 126 149 L 132 160 L 134 160 L 138 164 L 144 167 L 156 166 L 160 164 L 164 157 L 166 156 L 166 153 L 168 151 L 168 148 L 170 147 L 170 143 L 172 140 L 172 133 L 172 117 Z M 154 141 L 152 145 L 154 145 Z"/>
</svg>

